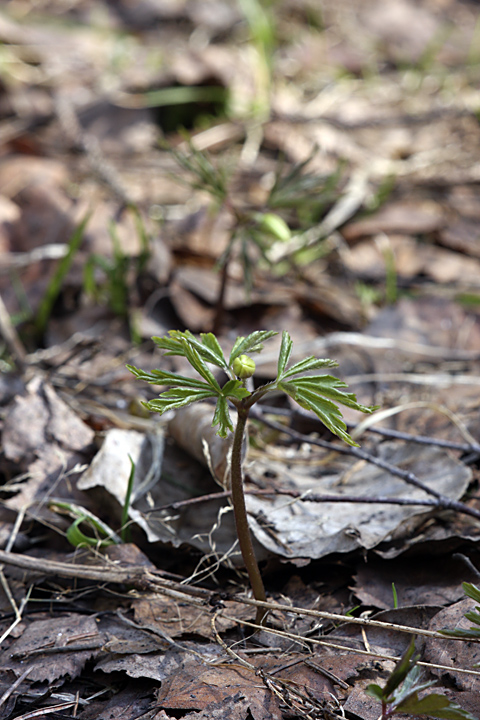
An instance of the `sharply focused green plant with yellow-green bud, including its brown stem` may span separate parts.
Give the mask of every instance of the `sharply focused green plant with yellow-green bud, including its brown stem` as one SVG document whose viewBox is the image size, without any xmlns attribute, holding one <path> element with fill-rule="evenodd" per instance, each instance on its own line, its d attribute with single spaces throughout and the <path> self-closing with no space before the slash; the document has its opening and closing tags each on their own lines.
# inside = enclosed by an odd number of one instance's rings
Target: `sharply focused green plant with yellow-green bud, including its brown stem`
<svg viewBox="0 0 480 720">
<path fill-rule="evenodd" d="M 353 393 L 343 392 L 340 388 L 347 387 L 346 384 L 332 375 L 303 374 L 318 368 L 334 367 L 337 365 L 334 360 L 311 356 L 287 368 L 293 343 L 290 335 L 285 331 L 278 356 L 277 377 L 272 382 L 261 385 L 255 390 L 247 390 L 245 380 L 252 377 L 255 372 L 255 363 L 247 353 L 260 352 L 263 349 L 262 343 L 274 335 L 277 333 L 273 331 L 257 331 L 248 337 L 237 337 L 228 361 L 224 357 L 217 338 L 212 333 L 202 334 L 198 339 L 188 330 L 186 332 L 172 330 L 168 336 L 153 338 L 161 350 L 166 350 L 165 355 L 185 357 L 202 378 L 201 380 L 164 370 L 145 372 L 132 365 L 127 365 L 127 368 L 140 380 L 170 388 L 160 393 L 155 400 L 144 403 L 145 407 L 152 412 L 163 414 L 167 410 L 184 407 L 207 398 L 216 399 L 217 405 L 212 427 L 218 425 L 217 435 L 223 438 L 226 438 L 229 432 L 234 433 L 230 477 L 232 505 L 240 551 L 253 595 L 256 600 L 262 602 L 266 600 L 265 588 L 253 550 L 243 490 L 242 444 L 250 409 L 268 393 L 284 392 L 302 408 L 312 410 L 332 433 L 349 445 L 356 445 L 356 443 L 347 432 L 337 403 L 364 413 L 376 410 L 374 407 L 366 407 L 358 403 Z M 219 384 L 208 367 L 209 365 L 221 368 L 226 374 L 228 379 L 223 386 Z M 235 428 L 230 416 L 229 403 L 237 411 Z M 257 624 L 262 624 L 265 615 L 266 611 L 258 608 Z"/>
</svg>

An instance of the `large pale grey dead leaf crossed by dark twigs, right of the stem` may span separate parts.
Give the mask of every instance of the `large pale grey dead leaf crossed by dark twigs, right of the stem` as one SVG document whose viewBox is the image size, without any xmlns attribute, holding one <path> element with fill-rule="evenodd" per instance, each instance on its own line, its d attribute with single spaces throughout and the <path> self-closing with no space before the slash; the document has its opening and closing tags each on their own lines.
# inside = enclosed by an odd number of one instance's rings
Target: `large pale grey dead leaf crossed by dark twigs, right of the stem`
<svg viewBox="0 0 480 720">
<path fill-rule="evenodd" d="M 444 450 L 422 447 L 414 443 L 382 443 L 379 457 L 407 469 L 426 485 L 448 497 L 460 498 L 468 487 L 471 474 L 463 463 Z M 288 462 L 288 461 L 287 461 Z M 425 497 L 423 491 L 406 485 L 399 478 L 372 465 L 364 465 L 348 473 L 314 476 L 308 465 L 290 467 L 286 463 L 258 459 L 249 469 L 257 483 L 264 473 L 276 473 L 277 483 L 285 483 L 300 493 L 335 493 L 376 497 Z M 350 552 L 373 548 L 381 542 L 405 537 L 423 521 L 425 509 L 401 505 L 362 505 L 361 503 L 315 503 L 307 499 L 293 500 L 278 495 L 274 499 L 248 495 L 247 510 L 253 532 L 268 550 L 288 558 L 319 558 L 332 552 Z"/>
</svg>

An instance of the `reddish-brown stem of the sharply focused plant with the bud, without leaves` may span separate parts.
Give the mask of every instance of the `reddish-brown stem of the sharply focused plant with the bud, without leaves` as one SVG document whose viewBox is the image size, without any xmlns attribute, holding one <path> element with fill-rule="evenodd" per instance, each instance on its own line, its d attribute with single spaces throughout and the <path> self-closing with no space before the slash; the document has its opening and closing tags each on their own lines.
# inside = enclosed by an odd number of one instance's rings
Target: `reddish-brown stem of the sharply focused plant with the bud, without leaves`
<svg viewBox="0 0 480 720">
<path fill-rule="evenodd" d="M 248 526 L 247 508 L 245 507 L 245 494 L 243 492 L 243 472 L 242 472 L 242 445 L 245 435 L 245 426 L 248 419 L 248 408 L 242 403 L 237 405 L 238 419 L 233 436 L 232 460 L 231 460 L 231 482 L 232 482 L 232 504 L 233 514 L 235 516 L 235 525 L 237 527 L 238 542 L 242 553 L 243 562 L 248 572 L 250 585 L 252 586 L 253 596 L 255 600 L 266 602 L 265 588 L 262 576 L 253 550 L 252 536 Z M 262 625 L 267 611 L 265 608 L 257 608 L 255 622 Z"/>
</svg>

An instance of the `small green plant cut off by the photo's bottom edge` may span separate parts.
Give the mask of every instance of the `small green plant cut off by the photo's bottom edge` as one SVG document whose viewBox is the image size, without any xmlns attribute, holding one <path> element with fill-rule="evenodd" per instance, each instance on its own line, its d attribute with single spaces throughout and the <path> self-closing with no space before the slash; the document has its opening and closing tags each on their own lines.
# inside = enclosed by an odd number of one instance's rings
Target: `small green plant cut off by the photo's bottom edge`
<svg viewBox="0 0 480 720">
<path fill-rule="evenodd" d="M 398 713 L 427 715 L 444 720 L 475 720 L 473 715 L 445 695 L 429 693 L 421 698 L 418 696 L 419 692 L 435 684 L 435 681 L 422 682 L 418 659 L 419 655 L 415 655 L 415 640 L 412 638 L 383 688 L 373 683 L 368 685 L 365 691 L 367 695 L 382 705 L 379 720 L 389 720 Z"/>
</svg>

